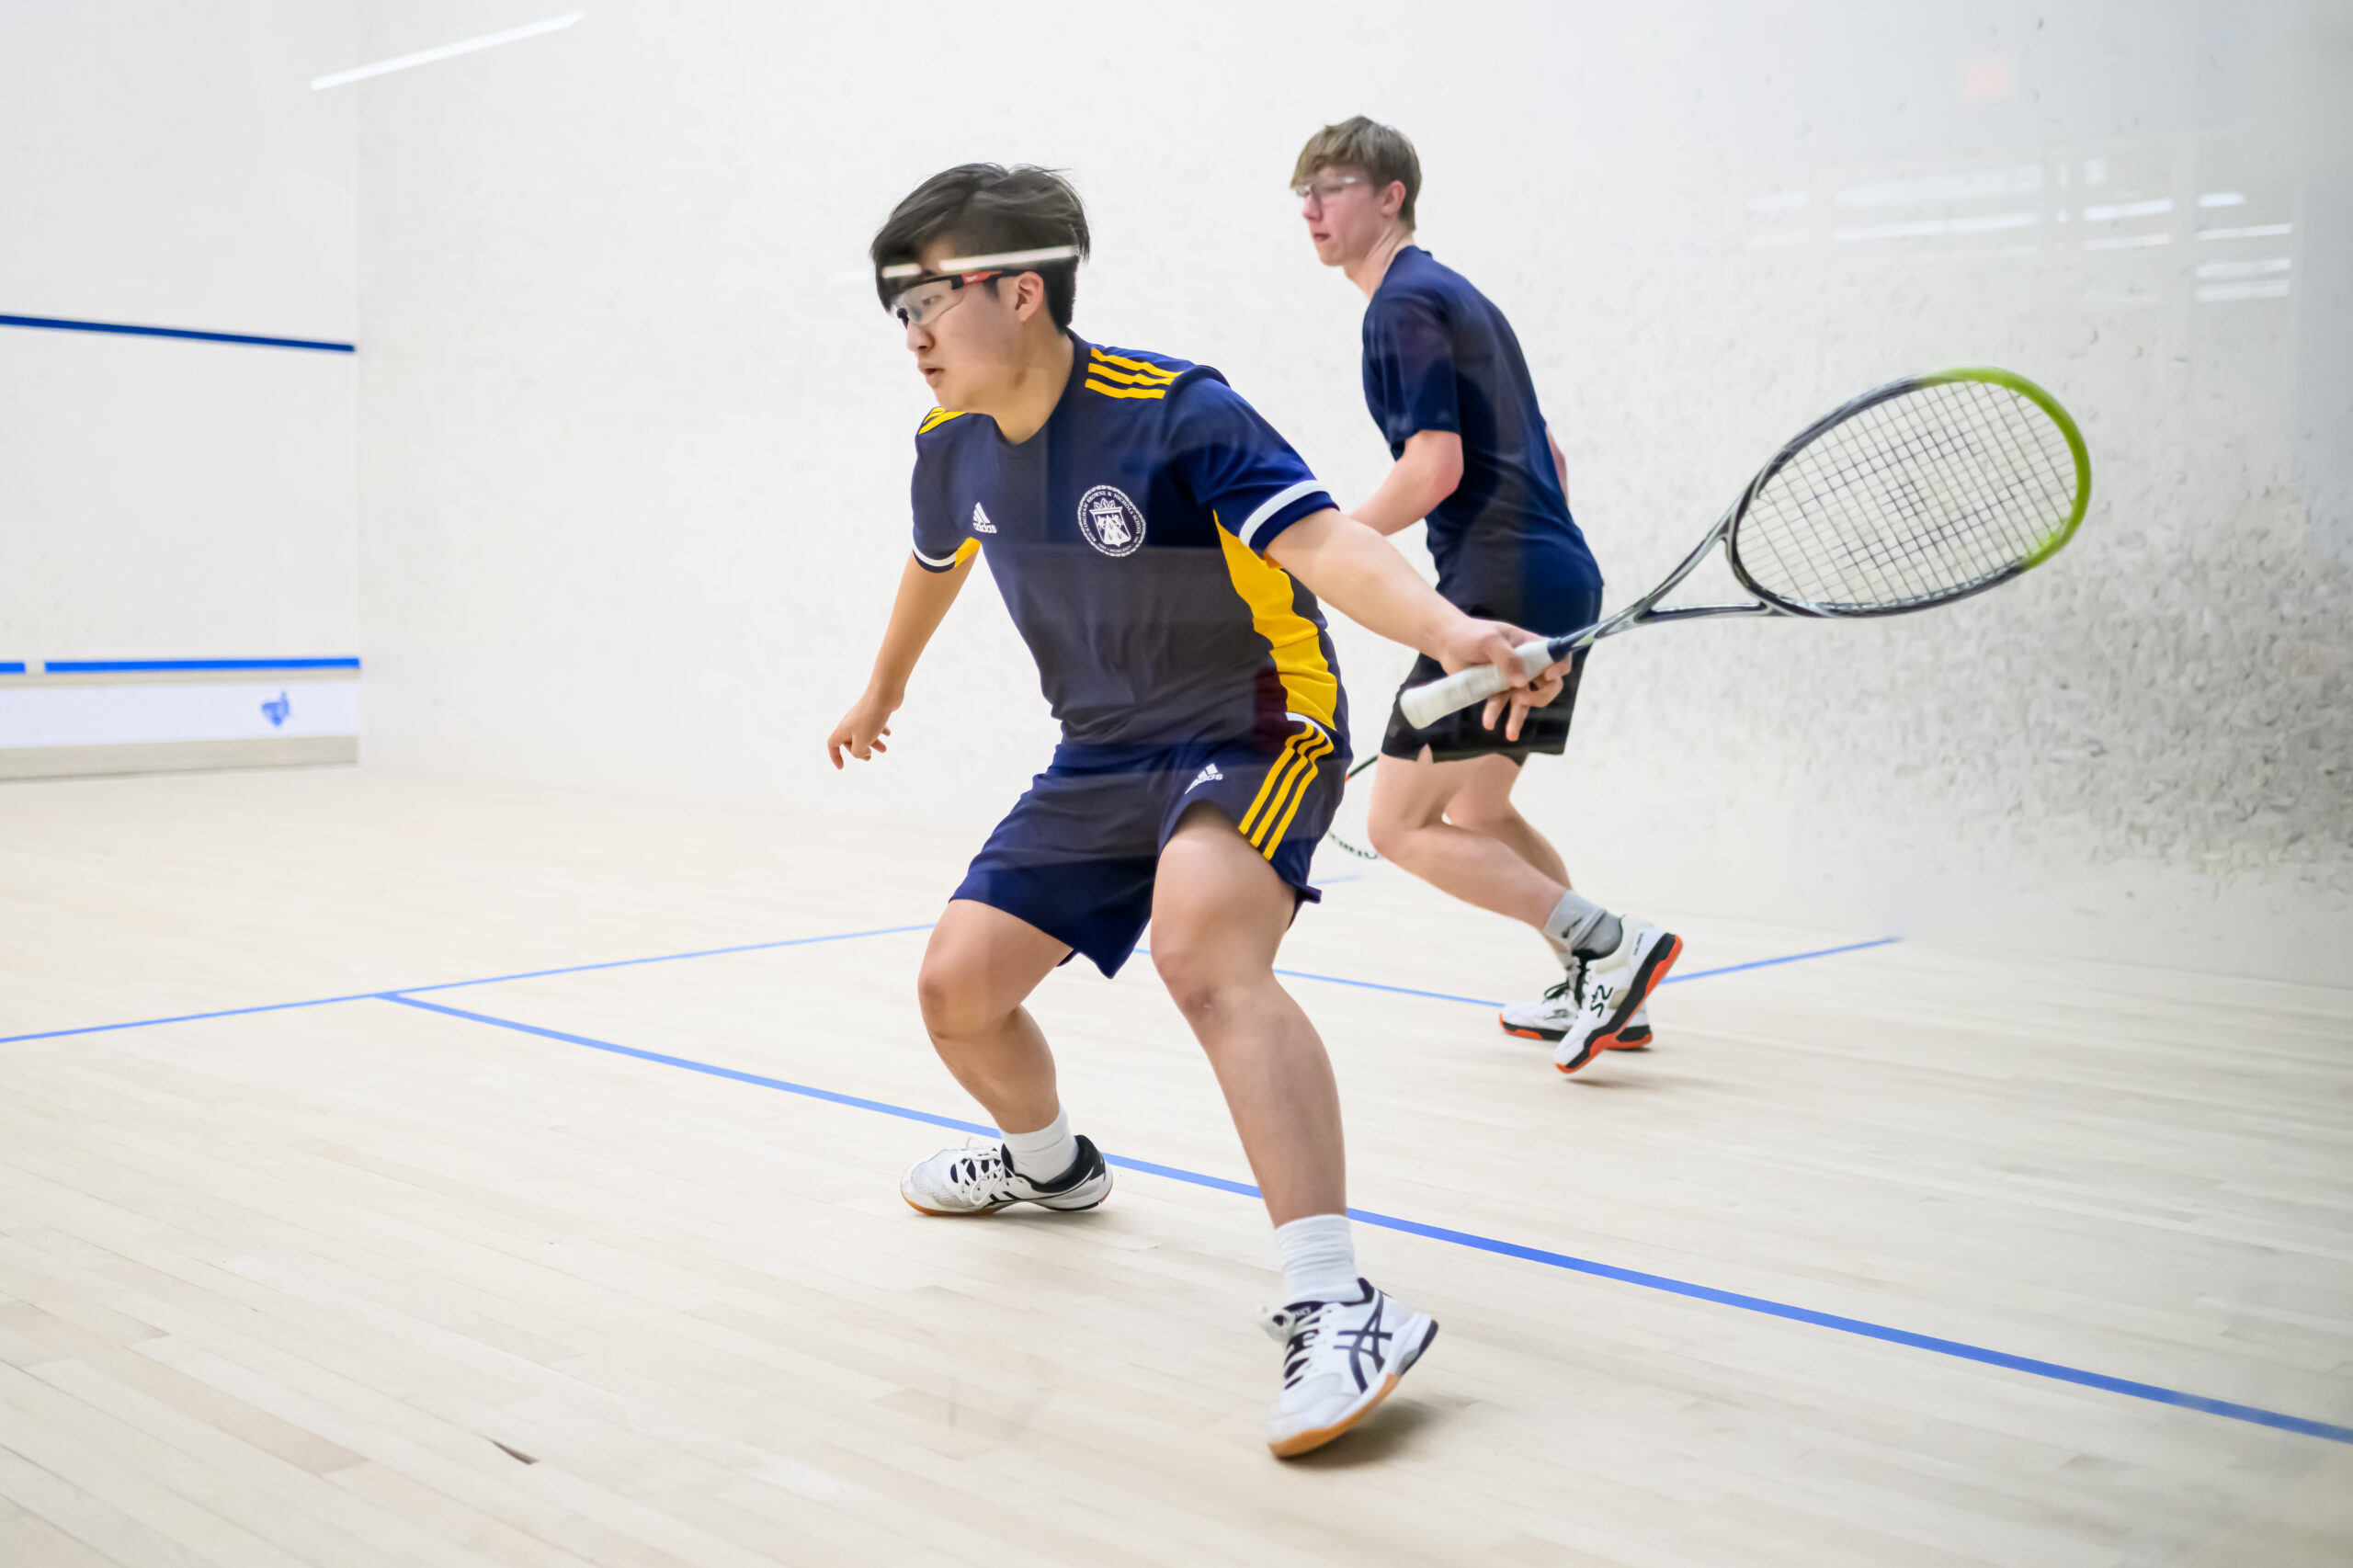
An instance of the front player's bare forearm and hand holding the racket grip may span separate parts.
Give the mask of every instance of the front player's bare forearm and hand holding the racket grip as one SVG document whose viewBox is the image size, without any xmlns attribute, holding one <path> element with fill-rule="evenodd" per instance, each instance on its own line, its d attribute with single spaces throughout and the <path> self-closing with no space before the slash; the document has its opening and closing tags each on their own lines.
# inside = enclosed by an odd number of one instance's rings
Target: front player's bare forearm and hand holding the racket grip
<svg viewBox="0 0 2353 1568">
<path fill-rule="evenodd" d="M 1421 582 L 1421 572 L 1395 546 L 1346 513 L 1318 511 L 1301 518 L 1266 553 L 1304 582 L 1308 593 L 1374 636 L 1426 652 L 1449 671 L 1494 666 L 1511 687 L 1506 735 L 1520 732 L 1527 709 L 1541 709 L 1560 695 L 1565 664 L 1529 680 L 1513 652 L 1537 633 L 1464 614 Z"/>
</svg>

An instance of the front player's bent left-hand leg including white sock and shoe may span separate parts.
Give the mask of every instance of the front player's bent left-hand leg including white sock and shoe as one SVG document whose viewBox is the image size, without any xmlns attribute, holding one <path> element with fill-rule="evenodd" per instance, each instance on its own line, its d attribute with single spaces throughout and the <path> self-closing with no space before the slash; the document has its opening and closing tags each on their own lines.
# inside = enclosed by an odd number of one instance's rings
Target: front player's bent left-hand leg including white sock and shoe
<svg viewBox="0 0 2353 1568">
<path fill-rule="evenodd" d="M 1031 1017 L 1028 994 L 1071 949 L 1028 921 L 951 899 L 922 954 L 915 996 L 932 1050 L 1005 1132 L 915 1161 L 899 1182 L 927 1215 L 986 1215 L 1009 1203 L 1094 1208 L 1111 1170 L 1071 1132 L 1054 1083 L 1054 1052 Z"/>
</svg>

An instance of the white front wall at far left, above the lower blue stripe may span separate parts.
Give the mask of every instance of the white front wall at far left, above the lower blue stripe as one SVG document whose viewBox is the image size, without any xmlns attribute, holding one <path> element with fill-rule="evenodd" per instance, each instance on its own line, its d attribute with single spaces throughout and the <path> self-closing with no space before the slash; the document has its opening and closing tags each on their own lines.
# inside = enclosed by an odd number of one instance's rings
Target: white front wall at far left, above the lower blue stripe
<svg viewBox="0 0 2353 1568">
<path fill-rule="evenodd" d="M 7 7 L 0 315 L 351 341 L 329 0 Z M 353 356 L 0 327 L 0 659 L 358 652 Z"/>
</svg>

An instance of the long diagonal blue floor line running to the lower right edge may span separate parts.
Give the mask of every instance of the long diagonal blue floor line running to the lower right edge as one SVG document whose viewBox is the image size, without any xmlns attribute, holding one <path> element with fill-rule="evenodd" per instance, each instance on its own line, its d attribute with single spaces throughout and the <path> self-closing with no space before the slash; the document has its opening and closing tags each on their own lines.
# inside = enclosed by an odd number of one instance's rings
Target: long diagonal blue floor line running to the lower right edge
<svg viewBox="0 0 2353 1568">
<path fill-rule="evenodd" d="M 1873 944 L 1875 946 L 1875 944 Z M 1755 968 L 1755 965 L 1734 965 Z M 1713 972 L 1713 970 L 1711 970 Z M 1692 975 L 1699 979 L 1699 975 Z M 489 1024 L 492 1029 L 513 1029 L 515 1034 L 532 1034 L 544 1041 L 562 1041 L 565 1045 L 586 1045 L 588 1050 L 602 1050 L 616 1057 L 633 1057 L 638 1062 L 656 1062 L 661 1067 L 682 1067 L 689 1074 L 704 1074 L 711 1078 L 727 1078 L 732 1083 L 748 1083 L 753 1088 L 784 1090 L 786 1095 L 802 1095 L 807 1099 L 824 1099 L 828 1104 L 847 1104 L 859 1111 L 878 1111 L 882 1116 L 896 1116 L 901 1121 L 920 1121 L 934 1128 L 948 1128 L 955 1132 L 976 1132 L 981 1137 L 998 1137 L 995 1128 L 986 1128 L 972 1121 L 958 1121 L 953 1116 L 934 1116 L 932 1111 L 915 1111 L 904 1104 L 889 1104 L 885 1099 L 864 1099 L 859 1095 L 840 1095 L 835 1090 L 812 1088 L 807 1083 L 791 1083 L 786 1078 L 767 1078 L 762 1074 L 746 1074 L 732 1067 L 715 1067 L 711 1062 L 696 1062 L 692 1057 L 673 1057 L 659 1050 L 638 1050 L 635 1045 L 616 1045 L 612 1041 L 598 1041 L 586 1034 L 565 1034 L 562 1029 L 541 1029 L 539 1024 L 522 1024 L 511 1017 L 492 1017 L 487 1012 L 466 1012 L 464 1008 L 445 1008 L 440 1003 L 414 1001 L 398 991 L 388 991 L 381 1001 L 400 1003 L 402 1008 L 419 1008 L 424 1012 L 440 1012 L 445 1017 L 459 1017 L 473 1024 Z M 1207 1187 L 1212 1191 L 1226 1191 L 1242 1198 L 1257 1198 L 1259 1189 L 1247 1182 L 1228 1182 L 1226 1177 L 1202 1175 L 1198 1170 L 1184 1170 L 1179 1165 L 1155 1165 L 1153 1161 L 1127 1158 L 1122 1154 L 1106 1154 L 1106 1163 L 1120 1170 L 1136 1170 L 1141 1175 L 1167 1177 L 1172 1182 L 1188 1182 L 1193 1187 Z M 1593 1262 L 1591 1257 L 1572 1257 L 1569 1253 L 1551 1253 L 1546 1248 L 1527 1248 L 1515 1241 L 1499 1241 L 1494 1236 L 1478 1236 L 1473 1231 L 1457 1231 L 1442 1224 L 1421 1224 L 1419 1220 L 1400 1220 L 1398 1215 L 1381 1215 L 1369 1208 L 1351 1208 L 1351 1220 L 1362 1224 L 1377 1224 L 1381 1229 L 1402 1231 L 1407 1236 L 1421 1236 L 1426 1241 L 1445 1241 L 1459 1248 L 1471 1248 L 1478 1253 L 1494 1253 L 1499 1257 L 1515 1257 L 1520 1262 L 1544 1264 L 1548 1269 L 1565 1269 L 1569 1274 L 1591 1274 L 1593 1278 L 1617 1281 L 1621 1285 L 1640 1285 L 1645 1290 L 1661 1290 L 1666 1295 L 1680 1295 L 1694 1302 L 1711 1302 L 1715 1307 L 1737 1307 L 1741 1311 L 1755 1311 L 1769 1318 L 1784 1318 L 1788 1323 L 1807 1323 L 1812 1328 L 1831 1328 L 1842 1335 L 1857 1335 L 1861 1340 L 1878 1340 L 1882 1344 L 1901 1344 L 1906 1349 L 1932 1351 L 1937 1356 L 1953 1356 L 1958 1361 L 1977 1361 L 1979 1366 L 1993 1366 L 2009 1373 L 2026 1373 L 2031 1377 L 2047 1377 L 2052 1382 L 2068 1382 L 2082 1389 L 2099 1389 L 2101 1394 L 2122 1394 L 2127 1398 L 2144 1398 L 2158 1406 L 2172 1406 L 2177 1410 L 2198 1410 L 2202 1415 L 2221 1415 L 2235 1422 L 2249 1422 L 2254 1427 L 2271 1427 L 2275 1431 L 2294 1431 L 2299 1436 L 2327 1439 L 2329 1443 L 2353 1443 L 2353 1427 L 2339 1427 L 2334 1422 L 2315 1422 L 2304 1415 L 2287 1415 L 2282 1410 L 2264 1410 L 2261 1406 L 2242 1406 L 2231 1398 L 2207 1398 L 2205 1394 L 2186 1394 L 2181 1389 L 2167 1389 L 2153 1382 L 2137 1382 L 2132 1377 L 2108 1377 L 2106 1373 L 2089 1373 L 2078 1366 L 2064 1366 L 2059 1361 L 2040 1361 L 2035 1356 L 2012 1356 L 2009 1351 L 1986 1349 L 1984 1344 L 1967 1344 L 1962 1340 L 1941 1340 L 1937 1335 L 1915 1335 L 1908 1328 L 1889 1328 L 1885 1323 L 1871 1323 L 1866 1318 L 1847 1318 L 1835 1311 L 1814 1311 L 1809 1307 L 1791 1307 L 1788 1302 L 1774 1302 L 1762 1295 L 1744 1295 L 1739 1290 L 1718 1290 L 1713 1285 L 1694 1285 L 1689 1281 L 1671 1278 L 1666 1274 L 1645 1274 L 1642 1269 L 1621 1269 L 1617 1264 Z"/>
</svg>

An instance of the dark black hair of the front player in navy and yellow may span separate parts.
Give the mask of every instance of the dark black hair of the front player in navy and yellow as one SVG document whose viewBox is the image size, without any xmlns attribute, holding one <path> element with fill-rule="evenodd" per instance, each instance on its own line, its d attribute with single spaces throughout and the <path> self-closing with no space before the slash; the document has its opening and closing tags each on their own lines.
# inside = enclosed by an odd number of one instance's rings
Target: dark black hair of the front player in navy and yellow
<svg viewBox="0 0 2353 1568">
<path fill-rule="evenodd" d="M 965 257 L 1049 245 L 1073 245 L 1085 257 L 1087 207 L 1054 170 L 1026 162 L 1009 170 L 1002 162 L 941 170 L 892 207 L 866 250 L 885 311 L 904 285 L 882 278 L 882 268 L 922 261 L 922 252 L 939 240 L 951 240 Z M 1078 301 L 1078 261 L 1042 261 L 1021 271 L 1045 278 L 1045 308 L 1056 327 L 1068 330 L 1071 306 Z"/>
</svg>

